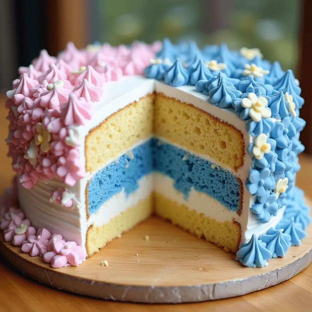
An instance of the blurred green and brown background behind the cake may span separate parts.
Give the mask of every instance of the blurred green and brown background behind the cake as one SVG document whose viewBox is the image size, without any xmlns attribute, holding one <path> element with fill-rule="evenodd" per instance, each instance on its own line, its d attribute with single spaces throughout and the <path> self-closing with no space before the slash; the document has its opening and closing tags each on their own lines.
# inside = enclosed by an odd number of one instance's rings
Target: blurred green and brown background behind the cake
<svg viewBox="0 0 312 312">
<path fill-rule="evenodd" d="M 49 54 L 73 41 L 112 45 L 170 38 L 196 40 L 199 47 L 226 42 L 230 49 L 258 47 L 270 61 L 292 69 L 300 79 L 311 116 L 311 0 L 0 0 L 0 91 L 11 88 L 18 66 L 39 51 Z M 309 13 L 310 12 L 310 13 Z M 310 45 L 310 46 L 309 46 Z M 307 78 L 305 78 L 307 77 Z M 302 113 L 301 113 L 302 114 Z M 312 152 L 312 127 L 302 132 Z"/>
</svg>

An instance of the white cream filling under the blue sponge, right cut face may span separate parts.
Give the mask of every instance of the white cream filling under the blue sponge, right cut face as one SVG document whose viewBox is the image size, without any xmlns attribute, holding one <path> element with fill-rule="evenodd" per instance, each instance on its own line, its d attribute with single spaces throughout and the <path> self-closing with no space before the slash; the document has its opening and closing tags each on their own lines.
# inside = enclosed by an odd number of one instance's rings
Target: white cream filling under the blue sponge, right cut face
<svg viewBox="0 0 312 312">
<path fill-rule="evenodd" d="M 237 212 L 227 209 L 215 198 L 205 193 L 197 192 L 192 187 L 188 199 L 185 200 L 183 194 L 178 192 L 173 187 L 173 184 L 173 179 L 161 173 L 154 173 L 155 192 L 177 202 L 179 205 L 187 206 L 190 210 L 195 210 L 198 214 L 202 213 L 206 217 L 215 219 L 217 222 L 231 221 L 232 218 L 240 222 L 240 216 Z"/>
</svg>

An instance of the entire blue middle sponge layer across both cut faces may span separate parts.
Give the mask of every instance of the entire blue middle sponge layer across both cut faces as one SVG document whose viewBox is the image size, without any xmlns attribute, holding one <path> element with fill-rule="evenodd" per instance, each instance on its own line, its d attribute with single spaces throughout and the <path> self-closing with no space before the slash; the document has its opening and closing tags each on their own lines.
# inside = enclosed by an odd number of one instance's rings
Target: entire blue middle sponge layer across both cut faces
<svg viewBox="0 0 312 312">
<path fill-rule="evenodd" d="M 89 213 L 92 214 L 124 188 L 129 195 L 138 181 L 153 170 L 172 178 L 174 187 L 188 199 L 191 187 L 217 199 L 229 210 L 238 211 L 240 183 L 229 171 L 212 168 L 212 163 L 159 139 L 134 148 L 100 169 L 88 185 Z"/>
</svg>

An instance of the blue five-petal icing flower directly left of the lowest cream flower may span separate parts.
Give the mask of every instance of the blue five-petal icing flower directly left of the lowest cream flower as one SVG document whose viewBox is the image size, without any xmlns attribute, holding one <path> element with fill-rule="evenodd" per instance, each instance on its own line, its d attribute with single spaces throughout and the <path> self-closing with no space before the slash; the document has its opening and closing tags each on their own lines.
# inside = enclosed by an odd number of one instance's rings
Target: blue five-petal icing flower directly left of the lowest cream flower
<svg viewBox="0 0 312 312">
<path fill-rule="evenodd" d="M 270 178 L 270 169 L 264 168 L 261 170 L 251 169 L 249 172 L 246 187 L 251 195 L 258 196 L 259 202 L 265 202 L 272 187 L 272 180 Z"/>
</svg>

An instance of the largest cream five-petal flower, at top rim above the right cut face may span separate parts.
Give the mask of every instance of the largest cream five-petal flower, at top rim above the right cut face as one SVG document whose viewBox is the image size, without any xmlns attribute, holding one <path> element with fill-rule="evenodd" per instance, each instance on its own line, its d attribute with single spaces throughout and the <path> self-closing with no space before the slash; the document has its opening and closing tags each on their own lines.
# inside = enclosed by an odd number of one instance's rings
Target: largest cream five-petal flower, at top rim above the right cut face
<svg viewBox="0 0 312 312">
<path fill-rule="evenodd" d="M 249 108 L 249 116 L 252 120 L 259 122 L 261 118 L 271 117 L 271 111 L 266 108 L 268 100 L 264 96 L 257 97 L 255 93 L 248 93 L 246 98 L 241 100 L 241 106 Z"/>
</svg>

